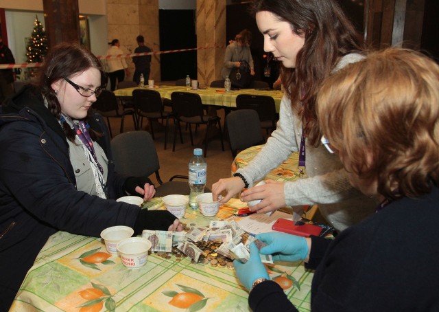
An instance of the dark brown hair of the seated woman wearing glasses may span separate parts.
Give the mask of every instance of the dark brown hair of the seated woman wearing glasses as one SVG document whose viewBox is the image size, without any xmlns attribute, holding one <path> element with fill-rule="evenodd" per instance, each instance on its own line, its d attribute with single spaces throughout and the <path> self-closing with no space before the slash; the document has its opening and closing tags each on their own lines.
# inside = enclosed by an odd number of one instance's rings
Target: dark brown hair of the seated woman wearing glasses
<svg viewBox="0 0 439 312">
<path fill-rule="evenodd" d="M 102 75 L 102 65 L 96 56 L 88 49 L 75 43 L 60 43 L 52 47 L 45 56 L 43 67 L 39 71 L 37 85 L 40 87 L 43 97 L 47 100 L 50 113 L 56 119 L 60 119 L 61 105 L 51 84 L 59 79 L 80 74 L 89 68 L 99 69 Z M 91 110 L 88 111 L 86 121 L 91 118 L 92 113 Z M 74 142 L 75 132 L 67 124 L 63 124 L 62 129 L 67 138 Z M 101 133 L 95 133 L 93 129 L 89 131 L 93 140 L 102 136 Z"/>
</svg>

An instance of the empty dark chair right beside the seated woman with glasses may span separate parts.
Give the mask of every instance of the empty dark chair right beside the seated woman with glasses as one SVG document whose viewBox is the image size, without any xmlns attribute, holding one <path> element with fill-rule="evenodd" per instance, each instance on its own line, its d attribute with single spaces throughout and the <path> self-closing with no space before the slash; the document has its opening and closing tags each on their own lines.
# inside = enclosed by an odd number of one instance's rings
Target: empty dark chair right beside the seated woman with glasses
<svg viewBox="0 0 439 312">
<path fill-rule="evenodd" d="M 155 197 L 169 194 L 189 195 L 189 181 L 186 175 L 174 175 L 167 182 L 160 177 L 160 164 L 152 136 L 147 131 L 131 131 L 117 135 L 111 140 L 111 151 L 115 170 L 130 177 L 149 177 L 153 173 L 160 186 L 156 187 Z"/>
</svg>

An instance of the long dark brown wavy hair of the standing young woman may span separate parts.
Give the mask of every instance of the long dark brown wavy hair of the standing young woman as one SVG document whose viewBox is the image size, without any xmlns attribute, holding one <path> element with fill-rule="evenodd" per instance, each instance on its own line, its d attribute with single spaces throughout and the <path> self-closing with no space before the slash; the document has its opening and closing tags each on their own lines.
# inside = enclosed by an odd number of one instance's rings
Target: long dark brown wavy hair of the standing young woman
<svg viewBox="0 0 439 312">
<path fill-rule="evenodd" d="M 297 113 L 302 111 L 305 135 L 318 146 L 320 126 L 316 118 L 318 87 L 331 74 L 340 57 L 364 50 L 363 39 L 333 0 L 256 0 L 254 14 L 268 11 L 291 24 L 292 32 L 305 36 L 296 68 L 282 65 L 281 79 Z M 301 101 L 300 95 L 305 97 Z M 303 102 L 303 106 L 302 106 Z"/>
</svg>

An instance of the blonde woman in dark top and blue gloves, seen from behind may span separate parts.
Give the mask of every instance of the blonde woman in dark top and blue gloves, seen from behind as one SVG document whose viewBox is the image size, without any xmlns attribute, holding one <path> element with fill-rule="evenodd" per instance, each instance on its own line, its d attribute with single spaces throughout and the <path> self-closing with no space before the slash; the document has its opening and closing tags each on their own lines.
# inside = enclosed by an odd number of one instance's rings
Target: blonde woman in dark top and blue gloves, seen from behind
<svg viewBox="0 0 439 312">
<path fill-rule="evenodd" d="M 381 204 L 335 240 L 259 234 L 261 254 L 316 269 L 311 311 L 439 311 L 439 66 L 407 49 L 374 52 L 327 78 L 317 102 L 322 143 Z M 235 269 L 253 311 L 296 311 L 254 244 Z"/>
</svg>

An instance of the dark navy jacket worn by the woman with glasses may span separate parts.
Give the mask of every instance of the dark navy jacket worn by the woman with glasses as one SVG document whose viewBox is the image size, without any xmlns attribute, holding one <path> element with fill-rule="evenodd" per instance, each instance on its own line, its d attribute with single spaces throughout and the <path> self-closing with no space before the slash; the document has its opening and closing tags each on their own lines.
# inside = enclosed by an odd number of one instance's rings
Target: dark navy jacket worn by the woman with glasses
<svg viewBox="0 0 439 312">
<path fill-rule="evenodd" d="M 76 189 L 69 145 L 36 87 L 7 99 L 0 115 L 0 311 L 7 311 L 25 274 L 59 229 L 99 236 L 112 225 L 134 227 L 140 208 Z M 108 198 L 125 196 L 126 177 L 114 171 L 102 116 L 89 123 L 108 157 Z M 3 153 L 7 151 L 7 153 Z M 44 194 L 42 196 L 42 194 Z"/>
</svg>

